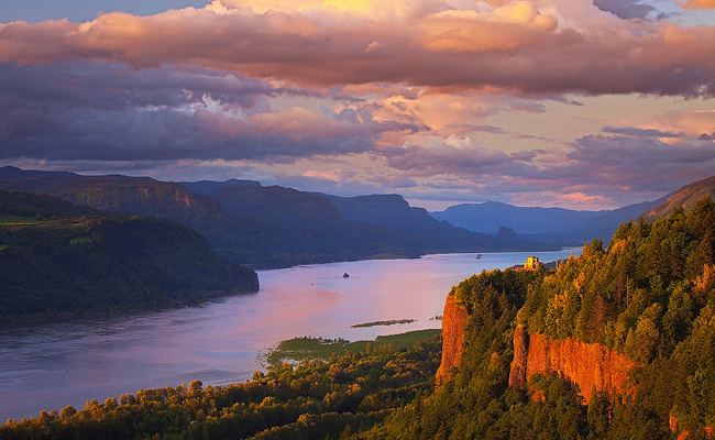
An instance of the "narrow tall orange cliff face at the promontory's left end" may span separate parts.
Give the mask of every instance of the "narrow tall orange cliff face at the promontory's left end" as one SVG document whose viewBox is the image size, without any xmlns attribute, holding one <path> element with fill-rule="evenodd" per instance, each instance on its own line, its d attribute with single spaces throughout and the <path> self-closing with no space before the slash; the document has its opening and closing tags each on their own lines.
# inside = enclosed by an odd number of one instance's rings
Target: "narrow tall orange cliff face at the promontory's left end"
<svg viewBox="0 0 715 440">
<path fill-rule="evenodd" d="M 468 319 L 466 307 L 454 295 L 448 296 L 442 315 L 442 363 L 437 370 L 437 386 L 447 382 L 451 372 L 462 363 Z"/>
</svg>

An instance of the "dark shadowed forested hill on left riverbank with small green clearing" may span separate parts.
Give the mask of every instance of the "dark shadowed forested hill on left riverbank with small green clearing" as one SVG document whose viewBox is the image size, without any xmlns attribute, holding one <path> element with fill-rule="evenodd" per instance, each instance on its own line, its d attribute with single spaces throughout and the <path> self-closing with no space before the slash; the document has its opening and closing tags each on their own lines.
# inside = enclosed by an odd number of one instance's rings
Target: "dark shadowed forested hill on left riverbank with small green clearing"
<svg viewBox="0 0 715 440">
<path fill-rule="evenodd" d="M 0 321 L 178 305 L 213 290 L 257 290 L 257 276 L 168 220 L 0 191 Z"/>
</svg>

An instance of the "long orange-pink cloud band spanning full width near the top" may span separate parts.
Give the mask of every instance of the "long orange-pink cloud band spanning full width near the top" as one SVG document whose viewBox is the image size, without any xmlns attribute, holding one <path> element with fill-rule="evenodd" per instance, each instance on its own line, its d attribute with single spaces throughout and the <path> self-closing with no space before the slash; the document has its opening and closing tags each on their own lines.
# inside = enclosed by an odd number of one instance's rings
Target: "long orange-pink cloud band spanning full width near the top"
<svg viewBox="0 0 715 440">
<path fill-rule="evenodd" d="M 0 61 L 201 66 L 311 87 L 715 94 L 715 59 L 703 55 L 715 52 L 712 26 L 632 22 L 585 0 L 477 6 L 223 0 L 79 24 L 13 22 L 0 24 Z"/>
</svg>

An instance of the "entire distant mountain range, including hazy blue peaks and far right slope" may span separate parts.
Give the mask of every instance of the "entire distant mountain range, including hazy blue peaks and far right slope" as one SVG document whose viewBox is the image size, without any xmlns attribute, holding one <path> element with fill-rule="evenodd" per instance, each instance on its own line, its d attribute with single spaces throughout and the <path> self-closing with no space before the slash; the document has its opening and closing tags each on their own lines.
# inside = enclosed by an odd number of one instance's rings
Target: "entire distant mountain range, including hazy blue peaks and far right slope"
<svg viewBox="0 0 715 440">
<path fill-rule="evenodd" d="M 618 226 L 652 218 L 710 190 L 715 177 L 671 198 L 615 210 L 458 205 L 441 212 L 410 207 L 399 195 L 339 197 L 255 180 L 161 182 L 0 167 L 0 188 L 46 194 L 77 205 L 166 218 L 201 233 L 223 258 L 255 268 L 426 253 L 544 251 L 607 243 Z M 707 189 L 710 188 L 710 189 Z M 688 196 L 691 195 L 691 196 Z M 654 217 L 653 217 L 654 216 Z"/>
</svg>

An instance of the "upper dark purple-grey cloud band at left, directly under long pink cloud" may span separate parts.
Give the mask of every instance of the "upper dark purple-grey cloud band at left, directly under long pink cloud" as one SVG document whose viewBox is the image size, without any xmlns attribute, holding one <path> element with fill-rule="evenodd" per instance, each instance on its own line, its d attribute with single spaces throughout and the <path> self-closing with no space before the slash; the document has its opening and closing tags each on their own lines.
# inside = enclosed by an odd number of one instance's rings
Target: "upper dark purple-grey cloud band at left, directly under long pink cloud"
<svg viewBox="0 0 715 440">
<path fill-rule="evenodd" d="M 120 63 L 64 62 L 47 66 L 0 64 L 0 92 L 12 106 L 53 103 L 61 108 L 179 107 L 213 100 L 255 107 L 274 95 L 264 82 L 204 69 L 134 70 Z M 3 103 L 4 102 L 3 99 Z"/>
</svg>

